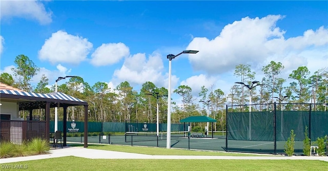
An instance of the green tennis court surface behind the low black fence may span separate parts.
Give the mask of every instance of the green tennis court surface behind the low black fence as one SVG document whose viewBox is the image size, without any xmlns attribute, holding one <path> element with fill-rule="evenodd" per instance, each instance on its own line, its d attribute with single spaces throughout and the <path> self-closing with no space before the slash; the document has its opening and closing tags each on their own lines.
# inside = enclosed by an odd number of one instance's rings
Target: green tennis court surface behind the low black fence
<svg viewBox="0 0 328 171">
<path fill-rule="evenodd" d="M 219 135 L 212 138 L 211 135 L 203 138 L 188 138 L 188 133 L 181 132 L 177 136 L 171 134 L 171 147 L 182 149 L 198 149 L 208 151 L 227 151 L 226 138 Z M 83 142 L 84 137 L 67 137 L 68 142 Z M 105 135 L 105 136 L 89 136 L 89 143 L 104 143 L 104 144 L 120 144 L 120 145 L 135 145 L 135 146 L 158 146 L 166 147 L 166 134 L 159 133 L 158 140 L 156 133 L 135 133 L 133 135 Z M 244 140 L 228 140 L 229 152 L 250 152 L 250 153 L 268 153 L 274 154 L 274 141 L 244 141 Z M 284 153 L 285 141 L 277 141 L 276 153 Z M 302 153 L 303 142 L 295 142 L 295 153 Z"/>
</svg>

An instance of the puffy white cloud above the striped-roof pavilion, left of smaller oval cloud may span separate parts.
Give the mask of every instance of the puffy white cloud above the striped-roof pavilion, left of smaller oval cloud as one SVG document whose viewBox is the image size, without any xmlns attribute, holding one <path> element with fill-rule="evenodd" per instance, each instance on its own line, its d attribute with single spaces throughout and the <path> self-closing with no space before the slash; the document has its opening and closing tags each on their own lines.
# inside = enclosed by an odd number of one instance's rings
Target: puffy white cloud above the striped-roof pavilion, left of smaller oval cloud
<svg viewBox="0 0 328 171">
<path fill-rule="evenodd" d="M 40 60 L 48 60 L 51 63 L 78 64 L 86 60 L 92 49 L 88 39 L 68 34 L 64 31 L 52 33 L 38 52 Z"/>
</svg>

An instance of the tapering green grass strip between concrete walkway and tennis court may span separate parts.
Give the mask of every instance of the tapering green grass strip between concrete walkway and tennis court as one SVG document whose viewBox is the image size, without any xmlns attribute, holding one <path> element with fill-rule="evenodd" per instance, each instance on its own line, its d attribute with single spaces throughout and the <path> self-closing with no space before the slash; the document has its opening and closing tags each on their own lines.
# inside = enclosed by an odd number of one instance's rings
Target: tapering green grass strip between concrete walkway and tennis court
<svg viewBox="0 0 328 171">
<path fill-rule="evenodd" d="M 72 144 L 70 146 L 81 146 L 82 144 Z M 127 152 L 146 155 L 183 155 L 183 156 L 259 156 L 255 154 L 239 154 L 239 153 L 225 153 L 225 152 L 208 152 L 208 151 L 193 151 L 188 149 L 167 149 L 158 147 L 144 147 L 144 146 L 127 146 L 127 145 L 98 145 L 88 144 L 88 148 L 103 149 L 115 152 Z"/>
</svg>

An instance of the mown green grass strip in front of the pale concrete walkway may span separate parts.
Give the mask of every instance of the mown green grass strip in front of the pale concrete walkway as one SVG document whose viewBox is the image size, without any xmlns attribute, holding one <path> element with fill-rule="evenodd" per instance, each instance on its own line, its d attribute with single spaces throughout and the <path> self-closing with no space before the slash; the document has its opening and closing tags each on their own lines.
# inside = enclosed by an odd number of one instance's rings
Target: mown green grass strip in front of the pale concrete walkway
<svg viewBox="0 0 328 171">
<path fill-rule="evenodd" d="M 167 159 L 86 159 L 60 157 L 15 163 L 24 170 L 327 170 L 328 162 L 317 160 L 167 160 Z"/>
</svg>

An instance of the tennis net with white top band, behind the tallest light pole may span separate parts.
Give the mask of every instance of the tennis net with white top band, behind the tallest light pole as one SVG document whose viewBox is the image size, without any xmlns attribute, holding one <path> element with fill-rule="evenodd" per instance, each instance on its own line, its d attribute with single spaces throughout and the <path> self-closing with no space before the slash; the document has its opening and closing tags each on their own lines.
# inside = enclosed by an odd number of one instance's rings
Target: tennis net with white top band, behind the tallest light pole
<svg viewBox="0 0 328 171">
<path fill-rule="evenodd" d="M 125 142 L 167 140 L 168 133 L 126 132 Z M 171 132 L 171 139 L 188 138 L 188 131 Z"/>
</svg>

